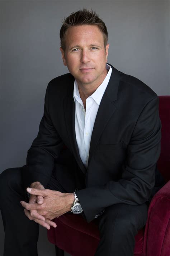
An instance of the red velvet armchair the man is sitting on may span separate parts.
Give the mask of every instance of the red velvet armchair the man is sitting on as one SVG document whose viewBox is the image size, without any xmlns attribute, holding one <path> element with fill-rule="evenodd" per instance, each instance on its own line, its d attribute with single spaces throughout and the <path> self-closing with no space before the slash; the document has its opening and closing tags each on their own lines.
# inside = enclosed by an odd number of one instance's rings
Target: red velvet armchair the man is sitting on
<svg viewBox="0 0 170 256">
<path fill-rule="evenodd" d="M 166 184 L 152 198 L 146 226 L 135 237 L 134 256 L 170 256 L 170 96 L 159 98 L 162 139 L 158 169 Z M 100 239 L 96 221 L 88 224 L 71 213 L 56 218 L 57 228 L 47 232 L 49 242 L 56 245 L 56 255 L 64 255 L 64 250 L 72 256 L 94 256 Z"/>
</svg>

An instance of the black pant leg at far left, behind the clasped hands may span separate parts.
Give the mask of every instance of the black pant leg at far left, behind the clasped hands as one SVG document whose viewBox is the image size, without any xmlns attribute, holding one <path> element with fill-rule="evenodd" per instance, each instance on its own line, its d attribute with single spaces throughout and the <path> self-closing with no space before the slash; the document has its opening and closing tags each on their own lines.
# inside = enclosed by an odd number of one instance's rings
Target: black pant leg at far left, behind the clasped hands
<svg viewBox="0 0 170 256">
<path fill-rule="evenodd" d="M 48 189 L 67 191 L 52 174 Z M 0 210 L 4 224 L 4 256 L 37 256 L 39 224 L 24 214 L 20 201 L 25 201 L 22 167 L 11 168 L 0 174 Z"/>
</svg>

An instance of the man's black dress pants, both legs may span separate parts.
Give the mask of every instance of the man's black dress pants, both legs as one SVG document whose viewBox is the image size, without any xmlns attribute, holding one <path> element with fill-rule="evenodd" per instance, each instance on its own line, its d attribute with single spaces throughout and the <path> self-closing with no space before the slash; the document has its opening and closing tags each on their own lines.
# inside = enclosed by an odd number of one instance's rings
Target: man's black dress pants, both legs
<svg viewBox="0 0 170 256">
<path fill-rule="evenodd" d="M 0 174 L 0 210 L 5 230 L 4 256 L 38 255 L 39 224 L 25 216 L 20 204 L 20 201 L 25 201 L 21 172 L 22 168 L 12 168 Z M 47 188 L 67 192 L 54 174 Z M 105 208 L 103 215 L 96 219 L 100 242 L 95 256 L 133 256 L 134 237 L 146 224 L 147 211 L 146 203 L 122 203 Z"/>
</svg>

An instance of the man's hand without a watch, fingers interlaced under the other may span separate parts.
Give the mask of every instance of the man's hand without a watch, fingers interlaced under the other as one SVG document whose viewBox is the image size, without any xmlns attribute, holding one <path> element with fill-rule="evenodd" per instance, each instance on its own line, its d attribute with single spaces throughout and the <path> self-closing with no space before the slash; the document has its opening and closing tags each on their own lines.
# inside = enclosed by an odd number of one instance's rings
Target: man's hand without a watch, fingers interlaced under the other
<svg viewBox="0 0 170 256">
<path fill-rule="evenodd" d="M 29 187 L 36 188 L 36 189 L 45 189 L 44 186 L 38 181 L 32 183 Z M 44 202 L 43 196 L 36 196 L 36 195 L 30 194 L 29 203 L 38 203 L 39 205 L 42 205 L 43 202 Z M 50 226 L 53 226 L 54 228 L 56 228 L 57 226 L 55 222 L 49 219 L 45 219 L 45 217 L 40 215 L 37 212 L 37 210 L 29 211 L 27 209 L 24 209 L 24 212 L 29 220 L 34 220 L 36 223 L 42 225 L 44 228 L 50 229 Z"/>
</svg>

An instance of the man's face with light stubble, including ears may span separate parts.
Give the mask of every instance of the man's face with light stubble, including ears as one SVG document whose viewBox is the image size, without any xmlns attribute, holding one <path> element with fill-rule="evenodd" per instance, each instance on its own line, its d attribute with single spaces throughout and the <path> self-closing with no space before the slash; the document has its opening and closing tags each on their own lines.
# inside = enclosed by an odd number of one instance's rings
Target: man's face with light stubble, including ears
<svg viewBox="0 0 170 256">
<path fill-rule="evenodd" d="M 107 75 L 109 44 L 95 25 L 72 26 L 65 36 L 66 51 L 60 48 L 63 63 L 82 86 L 99 86 Z"/>
</svg>

